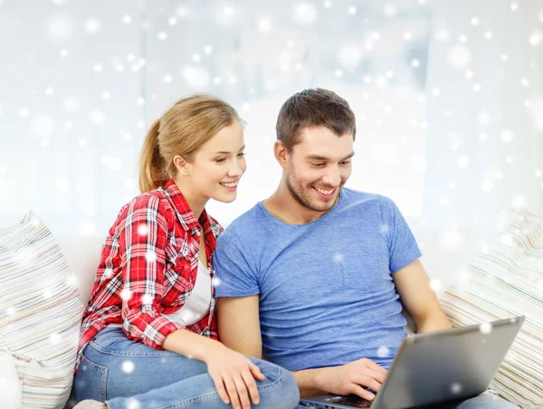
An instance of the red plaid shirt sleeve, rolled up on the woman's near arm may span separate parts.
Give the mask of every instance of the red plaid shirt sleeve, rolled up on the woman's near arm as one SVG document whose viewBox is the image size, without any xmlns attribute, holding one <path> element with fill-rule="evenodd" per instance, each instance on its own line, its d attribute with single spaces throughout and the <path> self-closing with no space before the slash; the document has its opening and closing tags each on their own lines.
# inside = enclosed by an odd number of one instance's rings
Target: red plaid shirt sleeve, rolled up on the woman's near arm
<svg viewBox="0 0 543 409">
<path fill-rule="evenodd" d="M 167 209 L 157 196 L 141 195 L 126 212 L 125 222 L 119 226 L 123 329 L 129 339 L 162 349 L 170 333 L 184 328 L 162 314 Z"/>
</svg>

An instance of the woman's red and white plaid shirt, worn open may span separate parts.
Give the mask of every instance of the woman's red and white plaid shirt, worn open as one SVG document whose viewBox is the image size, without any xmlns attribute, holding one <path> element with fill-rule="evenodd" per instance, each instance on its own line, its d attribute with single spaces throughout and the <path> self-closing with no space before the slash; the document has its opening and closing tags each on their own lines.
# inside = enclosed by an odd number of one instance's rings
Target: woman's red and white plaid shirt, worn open
<svg viewBox="0 0 543 409">
<path fill-rule="evenodd" d="M 111 226 L 100 257 L 89 305 L 83 314 L 79 356 L 108 324 L 122 324 L 127 338 L 162 349 L 168 334 L 182 325 L 167 318 L 181 309 L 195 286 L 201 227 L 205 254 L 211 254 L 223 228 L 204 210 L 200 223 L 170 179 L 164 188 L 138 195 L 124 205 Z M 218 339 L 214 286 L 209 314 L 186 329 Z M 78 359 L 79 362 L 79 359 Z"/>
</svg>

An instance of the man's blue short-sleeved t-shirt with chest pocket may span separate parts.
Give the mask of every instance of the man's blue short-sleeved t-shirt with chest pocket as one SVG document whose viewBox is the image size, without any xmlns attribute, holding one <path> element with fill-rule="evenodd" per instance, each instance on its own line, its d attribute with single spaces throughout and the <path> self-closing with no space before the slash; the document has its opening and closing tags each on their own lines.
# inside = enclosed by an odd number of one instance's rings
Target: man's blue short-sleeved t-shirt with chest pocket
<svg viewBox="0 0 543 409">
<path fill-rule="evenodd" d="M 262 352 L 291 371 L 367 357 L 390 367 L 405 338 L 392 274 L 421 252 L 392 200 L 341 190 L 310 224 L 261 203 L 219 237 L 216 297 L 260 294 Z"/>
</svg>

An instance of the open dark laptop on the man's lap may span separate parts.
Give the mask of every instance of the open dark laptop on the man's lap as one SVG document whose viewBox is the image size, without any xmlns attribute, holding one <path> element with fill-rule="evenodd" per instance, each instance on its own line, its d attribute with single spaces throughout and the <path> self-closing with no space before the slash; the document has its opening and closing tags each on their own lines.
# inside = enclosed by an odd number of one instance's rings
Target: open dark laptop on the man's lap
<svg viewBox="0 0 543 409">
<path fill-rule="evenodd" d="M 356 395 L 301 399 L 312 409 L 404 409 L 468 399 L 485 392 L 524 317 L 410 334 L 373 402 Z"/>
</svg>

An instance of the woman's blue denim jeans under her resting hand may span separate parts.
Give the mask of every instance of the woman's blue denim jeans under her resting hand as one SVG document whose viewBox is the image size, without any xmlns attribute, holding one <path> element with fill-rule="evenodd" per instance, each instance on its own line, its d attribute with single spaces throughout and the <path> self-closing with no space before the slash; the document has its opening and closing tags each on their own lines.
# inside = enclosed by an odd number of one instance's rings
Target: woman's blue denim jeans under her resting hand
<svg viewBox="0 0 543 409">
<path fill-rule="evenodd" d="M 256 381 L 262 409 L 293 409 L 300 401 L 294 376 L 250 358 L 266 376 Z M 72 399 L 106 402 L 110 409 L 228 408 L 204 362 L 130 341 L 121 328 L 105 328 L 83 350 Z"/>
</svg>

